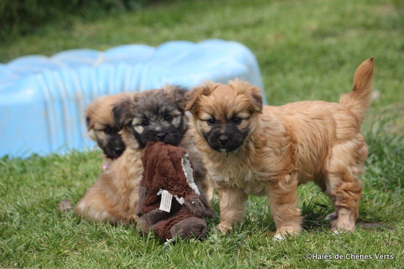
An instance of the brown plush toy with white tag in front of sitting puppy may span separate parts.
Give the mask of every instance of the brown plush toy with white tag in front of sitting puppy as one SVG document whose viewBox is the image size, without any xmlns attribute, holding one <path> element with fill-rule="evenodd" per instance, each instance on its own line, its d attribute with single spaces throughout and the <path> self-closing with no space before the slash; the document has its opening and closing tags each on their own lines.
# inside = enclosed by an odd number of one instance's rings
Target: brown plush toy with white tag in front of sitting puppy
<svg viewBox="0 0 404 269">
<path fill-rule="evenodd" d="M 144 233 L 152 228 L 162 239 L 203 238 L 207 233 L 203 218 L 211 217 L 211 212 L 199 200 L 186 151 L 162 142 L 149 142 L 142 164 L 137 227 Z"/>
</svg>

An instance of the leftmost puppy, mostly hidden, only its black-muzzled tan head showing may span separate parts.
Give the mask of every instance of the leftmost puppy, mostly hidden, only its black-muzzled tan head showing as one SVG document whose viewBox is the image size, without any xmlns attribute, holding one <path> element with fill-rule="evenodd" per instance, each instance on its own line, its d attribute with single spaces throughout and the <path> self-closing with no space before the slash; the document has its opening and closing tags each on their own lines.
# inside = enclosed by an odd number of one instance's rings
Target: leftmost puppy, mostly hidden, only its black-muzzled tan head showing
<svg viewBox="0 0 404 269">
<path fill-rule="evenodd" d="M 100 97 L 89 104 L 86 110 L 88 136 L 103 150 L 104 169 L 125 151 L 125 143 L 119 134 L 121 128 L 115 124 L 112 108 L 126 95 L 127 93 L 119 93 Z"/>
</svg>

